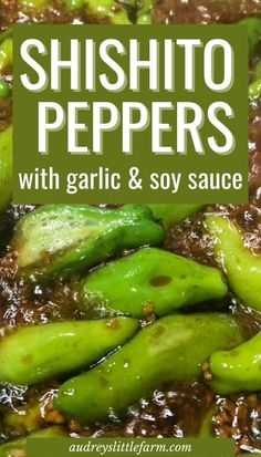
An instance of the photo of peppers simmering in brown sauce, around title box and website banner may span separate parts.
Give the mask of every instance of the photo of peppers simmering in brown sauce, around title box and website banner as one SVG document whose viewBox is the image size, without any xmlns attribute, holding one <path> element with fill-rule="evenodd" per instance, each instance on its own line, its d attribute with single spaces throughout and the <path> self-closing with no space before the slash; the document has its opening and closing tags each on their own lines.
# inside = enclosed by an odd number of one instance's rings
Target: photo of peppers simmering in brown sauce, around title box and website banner
<svg viewBox="0 0 261 457">
<path fill-rule="evenodd" d="M 18 23 L 246 25 L 248 204 L 13 204 Z M 28 437 L 261 454 L 261 0 L 0 0 L 0 457 Z"/>
</svg>

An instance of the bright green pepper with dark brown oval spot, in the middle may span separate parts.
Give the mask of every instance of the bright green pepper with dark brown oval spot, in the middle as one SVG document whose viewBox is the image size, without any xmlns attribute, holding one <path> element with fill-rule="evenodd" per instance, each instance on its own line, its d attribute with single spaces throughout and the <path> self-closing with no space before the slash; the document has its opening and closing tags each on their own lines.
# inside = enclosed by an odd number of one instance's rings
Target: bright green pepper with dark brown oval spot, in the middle
<svg viewBox="0 0 261 457">
<path fill-rule="evenodd" d="M 121 283 L 118 283 L 121 281 Z M 93 271 L 83 282 L 82 309 L 144 318 L 164 315 L 210 299 L 228 288 L 220 271 L 174 253 L 145 248 Z M 93 312 L 92 312 L 93 311 Z"/>
</svg>

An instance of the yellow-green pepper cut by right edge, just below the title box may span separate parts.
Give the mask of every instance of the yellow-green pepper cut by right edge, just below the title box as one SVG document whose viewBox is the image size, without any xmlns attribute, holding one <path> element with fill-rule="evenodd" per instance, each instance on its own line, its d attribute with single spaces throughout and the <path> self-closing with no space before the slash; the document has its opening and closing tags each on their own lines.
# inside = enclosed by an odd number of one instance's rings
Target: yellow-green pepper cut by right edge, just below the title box
<svg viewBox="0 0 261 457">
<path fill-rule="evenodd" d="M 261 256 L 244 247 L 239 228 L 229 219 L 210 216 L 206 225 L 232 291 L 243 304 L 261 311 Z"/>
</svg>

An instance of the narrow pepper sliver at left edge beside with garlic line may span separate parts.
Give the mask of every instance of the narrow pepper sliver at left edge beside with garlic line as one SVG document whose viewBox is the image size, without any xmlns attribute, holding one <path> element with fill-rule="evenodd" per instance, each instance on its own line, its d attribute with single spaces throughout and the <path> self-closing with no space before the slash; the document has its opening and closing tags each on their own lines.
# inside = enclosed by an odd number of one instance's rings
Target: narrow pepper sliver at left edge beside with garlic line
<svg viewBox="0 0 261 457">
<path fill-rule="evenodd" d="M 0 211 L 12 197 L 12 127 L 0 133 Z"/>
</svg>

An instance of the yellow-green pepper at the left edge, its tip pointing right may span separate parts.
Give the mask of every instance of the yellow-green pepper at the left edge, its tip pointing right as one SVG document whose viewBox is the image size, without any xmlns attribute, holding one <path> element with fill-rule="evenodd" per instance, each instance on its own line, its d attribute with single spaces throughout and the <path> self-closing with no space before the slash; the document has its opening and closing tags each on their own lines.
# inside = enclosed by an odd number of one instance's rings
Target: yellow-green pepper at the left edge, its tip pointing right
<svg viewBox="0 0 261 457">
<path fill-rule="evenodd" d="M 27 326 L 0 341 L 0 382 L 32 385 L 88 366 L 137 331 L 128 318 Z"/>
</svg>

